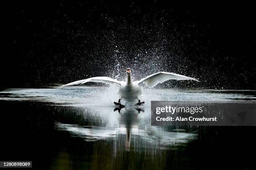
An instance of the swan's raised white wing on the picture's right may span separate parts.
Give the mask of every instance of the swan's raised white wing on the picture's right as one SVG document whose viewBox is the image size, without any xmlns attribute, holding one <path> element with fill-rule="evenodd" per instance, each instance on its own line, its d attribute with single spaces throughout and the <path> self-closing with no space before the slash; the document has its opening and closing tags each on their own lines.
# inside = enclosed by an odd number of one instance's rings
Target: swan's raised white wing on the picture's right
<svg viewBox="0 0 256 170">
<path fill-rule="evenodd" d="M 187 77 L 184 75 L 178 75 L 172 72 L 157 72 L 155 74 L 149 75 L 146 78 L 143 78 L 138 81 L 138 85 L 141 85 L 141 83 L 145 83 L 148 87 L 154 87 L 158 83 L 165 82 L 167 80 L 195 80 L 199 82 L 197 79 L 192 77 Z"/>
</svg>

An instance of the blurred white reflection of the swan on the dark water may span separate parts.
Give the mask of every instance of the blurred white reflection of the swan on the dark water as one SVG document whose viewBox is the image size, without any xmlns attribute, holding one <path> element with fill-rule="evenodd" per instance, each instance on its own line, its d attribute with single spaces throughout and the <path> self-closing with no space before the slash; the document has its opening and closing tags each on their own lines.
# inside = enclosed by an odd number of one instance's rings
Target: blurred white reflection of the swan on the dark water
<svg viewBox="0 0 256 170">
<path fill-rule="evenodd" d="M 144 149 L 177 149 L 184 146 L 192 140 L 197 139 L 197 133 L 187 133 L 185 130 L 165 130 L 164 127 L 154 127 L 150 125 L 150 107 L 144 111 L 141 108 L 125 107 L 115 109 L 113 112 L 110 108 L 98 108 L 102 112 L 108 112 L 108 115 L 98 114 L 96 116 L 92 108 L 86 108 L 84 116 L 90 117 L 90 121 L 112 122 L 112 125 L 72 125 L 56 122 L 57 130 L 68 131 L 72 137 L 82 138 L 86 142 L 115 141 L 112 146 L 117 150 L 130 151 Z M 90 112 L 93 113 L 89 113 Z M 97 110 L 97 108 L 96 108 Z M 103 111 L 104 110 L 104 111 Z M 100 117 L 99 117 L 100 116 Z M 110 117 L 111 116 L 111 117 Z M 96 118 L 97 117 L 97 118 Z M 94 120 L 95 119 L 95 120 Z M 105 119 L 105 120 L 104 120 Z M 108 119 L 108 120 L 106 120 Z M 116 119 L 116 120 L 113 120 Z"/>
</svg>

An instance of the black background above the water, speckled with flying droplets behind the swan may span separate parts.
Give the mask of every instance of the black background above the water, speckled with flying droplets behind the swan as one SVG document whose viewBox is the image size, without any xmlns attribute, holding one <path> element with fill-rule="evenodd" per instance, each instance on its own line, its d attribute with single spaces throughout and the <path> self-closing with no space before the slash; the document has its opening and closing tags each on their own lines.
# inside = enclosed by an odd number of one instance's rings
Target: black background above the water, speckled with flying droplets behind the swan
<svg viewBox="0 0 256 170">
<path fill-rule="evenodd" d="M 168 71 L 201 81 L 165 84 L 170 87 L 256 89 L 253 7 L 158 1 L 2 4 L 0 89 L 95 76 L 121 80 L 126 67 L 136 80 Z"/>
</svg>

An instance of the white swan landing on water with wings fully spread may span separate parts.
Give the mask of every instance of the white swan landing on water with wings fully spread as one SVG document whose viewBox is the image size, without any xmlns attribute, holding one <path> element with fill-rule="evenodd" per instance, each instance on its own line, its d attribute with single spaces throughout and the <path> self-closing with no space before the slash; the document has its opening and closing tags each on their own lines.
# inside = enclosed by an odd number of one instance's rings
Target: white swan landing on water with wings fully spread
<svg viewBox="0 0 256 170">
<path fill-rule="evenodd" d="M 132 77 L 131 77 L 131 69 L 127 68 L 126 69 L 127 72 L 127 81 L 118 81 L 115 79 L 112 79 L 110 77 L 91 77 L 91 78 L 87 78 L 84 80 L 78 80 L 75 82 L 70 82 L 68 84 L 65 85 L 61 85 L 58 88 L 62 88 L 65 86 L 69 86 L 69 85 L 82 85 L 86 82 L 102 82 L 102 83 L 107 83 L 107 84 L 118 84 L 119 87 L 119 91 L 118 91 L 118 103 L 114 102 L 115 104 L 119 104 L 121 105 L 120 101 L 122 99 L 125 99 L 127 101 L 134 101 L 134 100 L 138 100 L 137 105 L 140 105 L 141 102 L 141 84 L 144 83 L 146 86 L 148 87 L 154 87 L 155 85 L 157 85 L 158 83 L 162 83 L 165 82 L 167 80 L 195 80 L 197 82 L 199 82 L 196 78 L 192 78 L 192 77 L 187 77 L 184 75 L 179 75 L 179 74 L 175 74 L 172 72 L 157 72 L 155 74 L 149 75 L 148 77 L 145 77 L 141 80 L 138 81 L 132 81 Z"/>
</svg>

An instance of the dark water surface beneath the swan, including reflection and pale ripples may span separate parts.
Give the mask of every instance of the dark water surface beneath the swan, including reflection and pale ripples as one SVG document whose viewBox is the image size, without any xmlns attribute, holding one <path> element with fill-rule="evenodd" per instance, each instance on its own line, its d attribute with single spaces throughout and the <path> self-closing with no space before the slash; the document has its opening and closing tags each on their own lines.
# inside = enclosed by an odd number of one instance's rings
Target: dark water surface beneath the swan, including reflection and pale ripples
<svg viewBox="0 0 256 170">
<path fill-rule="evenodd" d="M 255 169 L 255 126 L 152 127 L 150 105 L 114 111 L 104 92 L 1 92 L 0 160 L 31 160 L 33 169 L 52 170 Z M 162 90 L 157 98 L 158 92 L 146 92 L 144 100 L 255 100 L 254 91 Z"/>
</svg>

